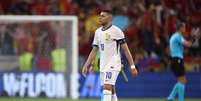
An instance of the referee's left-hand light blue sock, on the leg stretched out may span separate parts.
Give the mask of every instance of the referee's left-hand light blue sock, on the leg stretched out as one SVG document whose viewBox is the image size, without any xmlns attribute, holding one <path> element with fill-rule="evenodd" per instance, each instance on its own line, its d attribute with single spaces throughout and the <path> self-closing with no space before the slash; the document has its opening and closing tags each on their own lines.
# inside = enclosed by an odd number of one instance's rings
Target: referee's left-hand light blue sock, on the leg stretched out
<svg viewBox="0 0 201 101">
<path fill-rule="evenodd" d="M 174 100 L 176 97 L 176 94 L 178 93 L 178 90 L 179 90 L 179 83 L 176 83 L 174 85 L 174 88 L 172 89 L 172 92 L 168 96 L 167 100 Z"/>
</svg>

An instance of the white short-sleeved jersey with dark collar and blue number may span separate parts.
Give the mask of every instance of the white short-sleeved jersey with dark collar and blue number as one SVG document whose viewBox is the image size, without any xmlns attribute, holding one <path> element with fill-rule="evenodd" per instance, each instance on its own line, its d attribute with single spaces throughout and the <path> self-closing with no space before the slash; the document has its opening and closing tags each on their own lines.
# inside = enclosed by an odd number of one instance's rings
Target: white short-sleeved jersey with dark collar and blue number
<svg viewBox="0 0 201 101">
<path fill-rule="evenodd" d="M 96 30 L 93 46 L 99 48 L 100 72 L 121 70 L 120 44 L 124 42 L 123 32 L 115 25 L 106 30 L 103 27 Z"/>
</svg>

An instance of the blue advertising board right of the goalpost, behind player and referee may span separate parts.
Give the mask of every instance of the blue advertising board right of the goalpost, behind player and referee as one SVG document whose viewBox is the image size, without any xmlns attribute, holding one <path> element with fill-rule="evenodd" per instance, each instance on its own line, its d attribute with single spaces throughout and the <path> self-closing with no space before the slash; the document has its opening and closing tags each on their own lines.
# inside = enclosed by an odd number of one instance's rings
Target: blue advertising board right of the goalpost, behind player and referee
<svg viewBox="0 0 201 101">
<path fill-rule="evenodd" d="M 120 73 L 116 84 L 117 95 L 121 98 L 167 97 L 176 82 L 173 74 L 170 72 L 144 72 L 140 73 L 138 77 L 132 77 L 129 72 L 126 74 L 128 82 L 125 82 Z M 186 96 L 189 98 L 200 98 L 201 73 L 188 73 L 187 80 Z M 88 74 L 86 79 L 80 78 L 80 97 L 101 97 L 99 73 Z"/>
</svg>

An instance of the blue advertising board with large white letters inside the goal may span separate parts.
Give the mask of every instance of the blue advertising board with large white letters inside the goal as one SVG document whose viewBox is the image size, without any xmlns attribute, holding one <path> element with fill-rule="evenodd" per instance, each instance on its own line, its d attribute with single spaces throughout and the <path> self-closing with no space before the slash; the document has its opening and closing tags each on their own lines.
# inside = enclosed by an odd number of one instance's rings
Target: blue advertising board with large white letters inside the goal
<svg viewBox="0 0 201 101">
<path fill-rule="evenodd" d="M 65 98 L 66 79 L 63 73 L 1 73 L 2 96 Z"/>
</svg>

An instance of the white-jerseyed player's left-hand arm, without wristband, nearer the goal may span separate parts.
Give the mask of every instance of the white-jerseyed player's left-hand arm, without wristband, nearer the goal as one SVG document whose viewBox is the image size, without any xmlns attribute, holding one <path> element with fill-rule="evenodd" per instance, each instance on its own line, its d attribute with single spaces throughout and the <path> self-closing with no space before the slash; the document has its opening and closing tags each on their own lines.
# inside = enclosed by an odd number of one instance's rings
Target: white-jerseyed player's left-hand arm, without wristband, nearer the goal
<svg viewBox="0 0 201 101">
<path fill-rule="evenodd" d="M 84 66 L 82 67 L 82 75 L 86 77 L 87 67 L 91 64 L 91 62 L 95 59 L 98 47 L 94 46 L 85 62 Z"/>
</svg>

